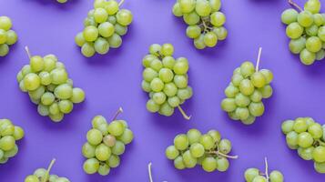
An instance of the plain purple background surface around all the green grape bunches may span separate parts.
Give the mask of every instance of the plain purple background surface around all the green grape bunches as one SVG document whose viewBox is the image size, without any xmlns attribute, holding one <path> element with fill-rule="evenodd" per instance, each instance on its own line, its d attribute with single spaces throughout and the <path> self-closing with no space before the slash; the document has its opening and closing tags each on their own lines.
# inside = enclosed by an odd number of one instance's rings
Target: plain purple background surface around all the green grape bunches
<svg viewBox="0 0 325 182">
<path fill-rule="evenodd" d="M 0 14 L 10 16 L 19 41 L 10 54 L 0 58 L 0 117 L 10 118 L 23 126 L 25 138 L 19 142 L 19 153 L 0 166 L 1 181 L 21 182 L 37 167 L 47 167 L 53 157 L 53 173 L 73 182 L 148 181 L 147 164 L 153 163 L 155 181 L 243 181 L 248 167 L 269 168 L 283 172 L 286 181 L 320 182 L 310 161 L 298 157 L 286 146 L 280 132 L 284 119 L 312 116 L 324 123 L 325 63 L 302 66 L 298 56 L 289 53 L 289 39 L 279 15 L 288 8 L 285 0 L 222 1 L 227 15 L 229 37 L 217 47 L 198 51 L 185 35 L 186 25 L 171 14 L 175 0 L 126 0 L 123 7 L 134 14 L 134 23 L 123 37 L 124 43 L 107 56 L 85 58 L 74 43 L 83 29 L 83 19 L 92 1 L 71 1 L 66 5 L 55 0 L 0 0 Z M 297 0 L 302 5 L 303 0 Z M 193 117 L 186 121 L 177 111 L 165 117 L 146 110 L 147 95 L 141 90 L 141 59 L 153 43 L 172 43 L 175 56 L 186 56 L 190 62 L 189 80 L 194 96 L 184 105 Z M 39 116 L 36 106 L 22 93 L 16 73 L 28 63 L 24 46 L 33 55 L 55 54 L 66 64 L 75 86 L 86 91 L 86 102 L 77 105 L 62 123 L 52 123 Z M 273 71 L 274 95 L 265 100 L 266 113 L 255 125 L 243 126 L 229 120 L 219 103 L 229 84 L 232 71 L 245 60 L 255 62 L 259 46 L 263 47 L 261 67 Z M 120 167 L 107 177 L 87 176 L 82 169 L 81 147 L 86 131 L 96 115 L 119 116 L 128 121 L 135 140 L 127 146 Z M 196 127 L 202 132 L 218 129 L 233 144 L 232 160 L 226 173 L 206 173 L 200 167 L 177 170 L 164 153 L 174 136 Z"/>
</svg>

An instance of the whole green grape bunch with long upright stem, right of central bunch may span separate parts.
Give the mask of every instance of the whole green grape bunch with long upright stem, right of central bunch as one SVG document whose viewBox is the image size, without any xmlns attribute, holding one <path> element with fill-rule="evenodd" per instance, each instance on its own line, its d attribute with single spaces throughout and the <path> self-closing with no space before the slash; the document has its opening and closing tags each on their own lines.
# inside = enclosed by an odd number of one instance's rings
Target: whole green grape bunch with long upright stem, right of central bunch
<svg viewBox="0 0 325 182">
<path fill-rule="evenodd" d="M 233 120 L 240 120 L 245 125 L 255 122 L 257 116 L 264 113 L 263 98 L 272 96 L 269 86 L 273 74 L 268 69 L 259 70 L 259 58 L 256 68 L 249 61 L 236 68 L 229 86 L 225 89 L 227 98 L 221 101 L 222 110 L 228 112 Z"/>
</svg>

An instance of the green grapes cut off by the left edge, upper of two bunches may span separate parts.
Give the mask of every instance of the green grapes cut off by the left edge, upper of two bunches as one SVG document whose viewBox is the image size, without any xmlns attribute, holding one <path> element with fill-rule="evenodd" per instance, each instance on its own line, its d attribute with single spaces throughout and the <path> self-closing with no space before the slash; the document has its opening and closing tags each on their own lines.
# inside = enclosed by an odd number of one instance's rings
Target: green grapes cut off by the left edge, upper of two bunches
<svg viewBox="0 0 325 182">
<path fill-rule="evenodd" d="M 0 57 L 9 53 L 9 45 L 17 42 L 17 35 L 12 27 L 11 19 L 7 16 L 0 16 Z"/>
</svg>

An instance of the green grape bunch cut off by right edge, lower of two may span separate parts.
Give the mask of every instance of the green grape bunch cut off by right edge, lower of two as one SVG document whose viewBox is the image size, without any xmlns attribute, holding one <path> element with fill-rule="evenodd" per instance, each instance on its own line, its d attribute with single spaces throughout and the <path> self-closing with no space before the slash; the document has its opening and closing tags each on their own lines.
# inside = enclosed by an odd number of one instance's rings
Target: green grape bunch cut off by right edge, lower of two
<svg viewBox="0 0 325 182">
<path fill-rule="evenodd" d="M 314 168 L 325 173 L 325 125 L 320 126 L 311 117 L 299 117 L 282 123 L 290 149 L 297 149 L 304 160 L 313 160 Z"/>
</svg>

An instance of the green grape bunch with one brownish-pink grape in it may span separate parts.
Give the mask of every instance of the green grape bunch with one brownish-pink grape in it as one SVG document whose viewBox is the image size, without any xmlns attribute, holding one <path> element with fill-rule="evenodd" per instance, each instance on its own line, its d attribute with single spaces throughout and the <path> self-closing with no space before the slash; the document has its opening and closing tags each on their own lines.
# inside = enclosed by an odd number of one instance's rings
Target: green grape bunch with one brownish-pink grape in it
<svg viewBox="0 0 325 182">
<path fill-rule="evenodd" d="M 93 118 L 93 128 L 86 133 L 87 141 L 82 147 L 82 154 L 87 158 L 84 162 L 86 174 L 107 176 L 111 168 L 119 166 L 119 156 L 133 140 L 133 132 L 128 128 L 127 121 L 117 120 L 121 112 L 122 108 L 119 108 L 109 124 L 104 116 Z"/>
</svg>

